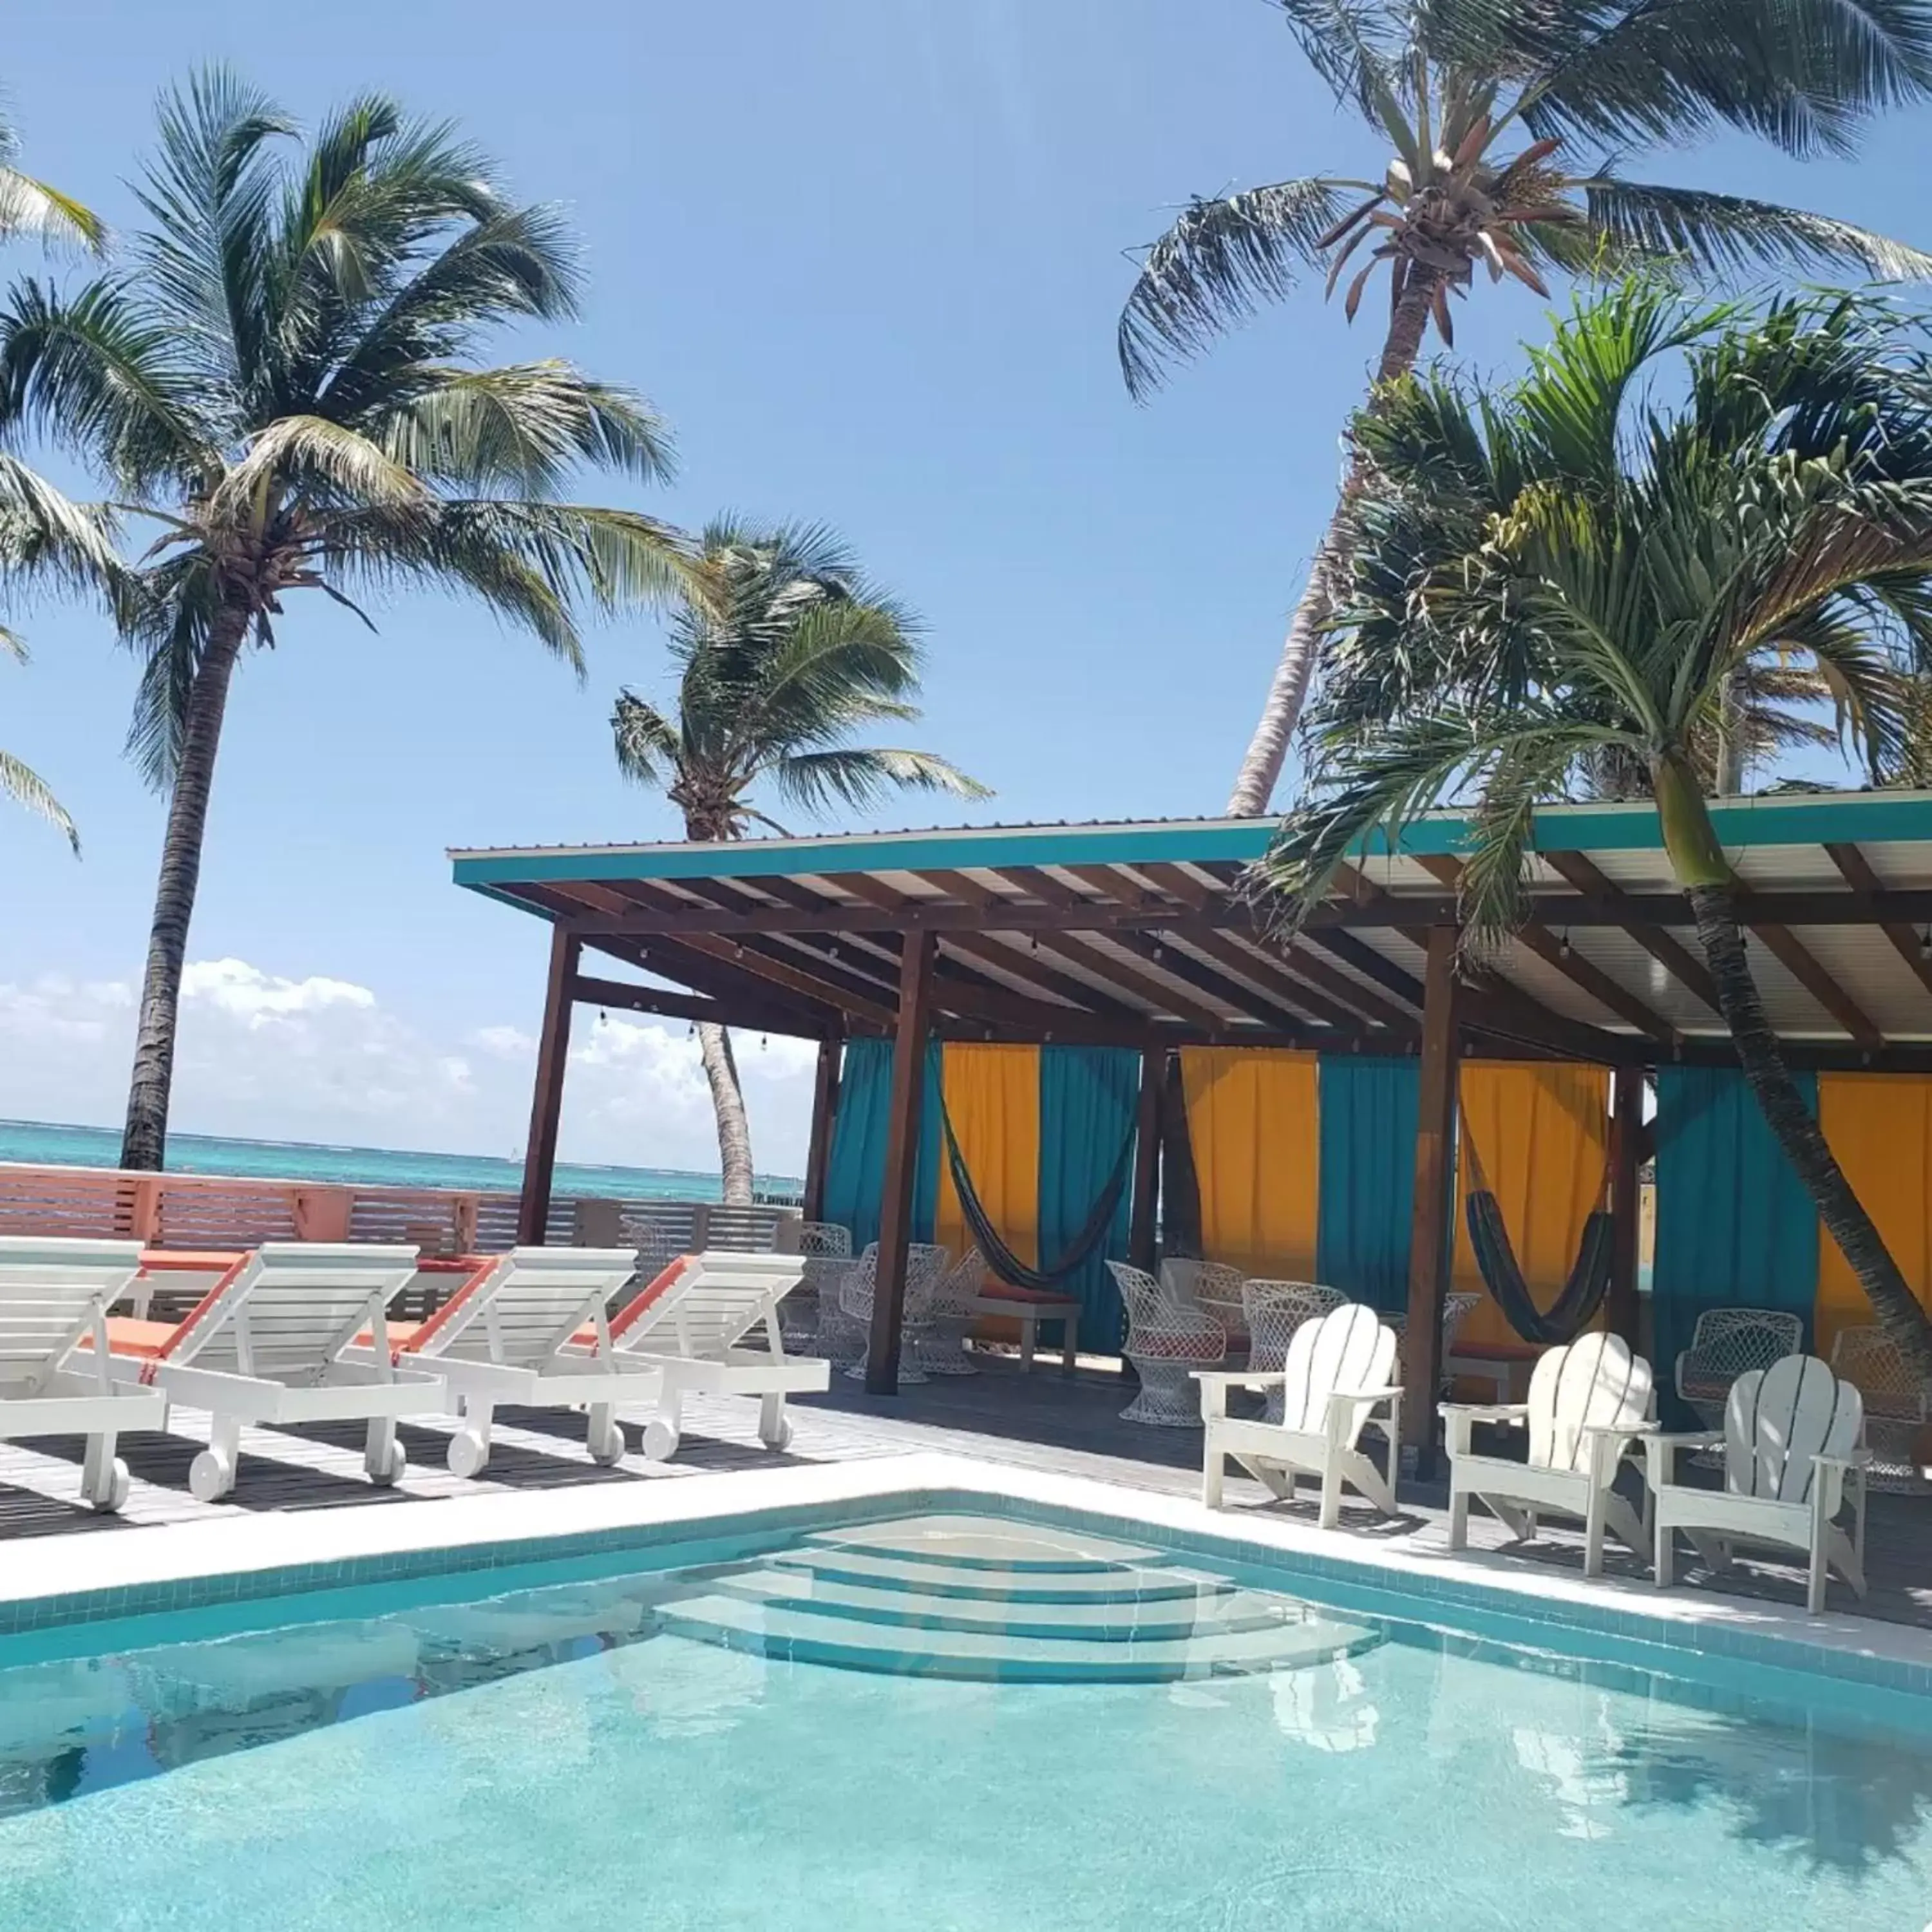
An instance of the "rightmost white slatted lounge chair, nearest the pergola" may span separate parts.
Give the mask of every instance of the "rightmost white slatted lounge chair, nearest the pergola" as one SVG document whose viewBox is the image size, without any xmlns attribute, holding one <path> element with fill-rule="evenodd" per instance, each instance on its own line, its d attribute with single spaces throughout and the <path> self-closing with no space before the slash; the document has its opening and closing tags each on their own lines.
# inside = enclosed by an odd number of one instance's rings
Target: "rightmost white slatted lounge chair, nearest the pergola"
<svg viewBox="0 0 1932 1932">
<path fill-rule="evenodd" d="M 759 1441 L 767 1449 L 790 1445 L 786 1395 L 831 1387 L 831 1362 L 784 1352 L 779 1306 L 802 1279 L 796 1254 L 694 1254 L 667 1267 L 611 1323 L 618 1360 L 663 1376 L 657 1414 L 643 1426 L 647 1461 L 676 1455 L 686 1395 L 755 1395 Z M 765 1347 L 740 1349 L 759 1327 Z"/>
</svg>

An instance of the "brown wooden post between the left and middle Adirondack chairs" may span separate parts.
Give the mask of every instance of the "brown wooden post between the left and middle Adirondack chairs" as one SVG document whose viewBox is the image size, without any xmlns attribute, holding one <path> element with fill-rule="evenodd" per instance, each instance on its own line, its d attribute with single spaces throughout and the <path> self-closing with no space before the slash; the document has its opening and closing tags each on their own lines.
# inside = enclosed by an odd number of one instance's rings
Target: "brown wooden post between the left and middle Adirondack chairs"
<svg viewBox="0 0 1932 1932">
<path fill-rule="evenodd" d="M 1416 1474 L 1435 1474 L 1435 1391 L 1441 1385 L 1443 1298 L 1449 1291 L 1455 1179 L 1457 981 L 1453 925 L 1430 927 L 1422 981 L 1422 1094 L 1416 1121 L 1416 1204 L 1408 1225 L 1408 1327 L 1403 1335 L 1403 1435 Z"/>
</svg>

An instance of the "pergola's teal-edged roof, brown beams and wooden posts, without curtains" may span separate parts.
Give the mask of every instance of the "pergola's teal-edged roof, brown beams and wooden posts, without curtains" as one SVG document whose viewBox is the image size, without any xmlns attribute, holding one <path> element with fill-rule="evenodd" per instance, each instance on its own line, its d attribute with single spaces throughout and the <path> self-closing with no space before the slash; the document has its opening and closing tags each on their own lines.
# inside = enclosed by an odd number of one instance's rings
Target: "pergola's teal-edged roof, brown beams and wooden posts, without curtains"
<svg viewBox="0 0 1932 1932">
<path fill-rule="evenodd" d="M 1714 810 L 1752 964 L 1793 1066 L 1932 1072 L 1932 794 Z M 1642 1084 L 1735 1065 L 1644 804 L 1536 821 L 1534 918 L 1459 970 L 1455 813 L 1364 852 L 1293 941 L 1258 906 L 1254 819 L 1022 825 L 723 844 L 452 852 L 456 883 L 551 922 L 520 1238 L 543 1240 L 578 1003 L 819 1041 L 806 1215 L 821 1215 L 838 1047 L 896 1041 L 867 1387 L 898 1381 L 927 1039 L 1142 1055 L 1132 1252 L 1151 1262 L 1167 1055 L 1186 1045 L 1420 1055 L 1405 1412 L 1428 1443 L 1449 1275 L 1463 1053 L 1613 1070 L 1611 1320 L 1636 1312 Z M 620 972 L 585 972 L 585 952 Z"/>
</svg>

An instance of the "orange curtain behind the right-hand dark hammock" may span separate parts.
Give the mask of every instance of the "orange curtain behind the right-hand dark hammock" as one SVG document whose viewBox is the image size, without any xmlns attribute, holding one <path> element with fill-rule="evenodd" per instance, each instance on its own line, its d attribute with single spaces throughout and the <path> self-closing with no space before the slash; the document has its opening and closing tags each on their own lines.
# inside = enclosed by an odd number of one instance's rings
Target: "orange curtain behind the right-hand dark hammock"
<svg viewBox="0 0 1932 1932">
<path fill-rule="evenodd" d="M 1584 1221 L 1604 1206 L 1609 1068 L 1464 1061 L 1461 1101 L 1466 1142 L 1457 1150 L 1455 1287 L 1480 1293 L 1482 1306 L 1457 1339 L 1520 1345 L 1484 1287 L 1461 1204 L 1476 1190 L 1480 1167 L 1522 1279 L 1548 1308 L 1569 1279 Z"/>
</svg>

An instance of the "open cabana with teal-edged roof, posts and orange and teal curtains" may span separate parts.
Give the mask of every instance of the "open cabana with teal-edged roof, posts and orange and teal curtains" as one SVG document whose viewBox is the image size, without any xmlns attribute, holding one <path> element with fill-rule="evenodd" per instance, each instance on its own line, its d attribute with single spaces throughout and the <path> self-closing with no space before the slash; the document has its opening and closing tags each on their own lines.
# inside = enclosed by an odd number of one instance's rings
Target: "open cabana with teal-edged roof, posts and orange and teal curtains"
<svg viewBox="0 0 1932 1932">
<path fill-rule="evenodd" d="M 1787 1059 L 1926 1293 L 1932 796 L 1735 800 L 1714 821 Z M 981 1206 L 1039 1256 L 1128 1126 L 1107 1252 L 1151 1265 L 1157 1213 L 1192 1206 L 1208 1254 L 1406 1310 L 1424 1457 L 1476 1175 L 1546 1298 L 1607 1200 L 1607 1320 L 1634 1337 L 1656 1155 L 1662 1378 L 1708 1306 L 1803 1304 L 1814 1341 L 1862 1320 L 1737 1074 L 1648 806 L 1540 813 L 1534 918 L 1480 970 L 1457 964 L 1455 813 L 1364 852 L 1293 943 L 1246 885 L 1267 837 L 1208 819 L 454 852 L 458 885 L 553 927 L 522 1238 L 543 1238 L 587 1003 L 819 1043 L 804 1211 L 827 1219 L 842 1190 L 854 1233 L 875 1219 L 875 1393 L 896 1385 L 908 1244 L 951 1211 L 935 1099 Z M 997 1049 L 1039 1061 L 995 1070 Z M 1082 1097 L 1055 1105 L 1061 1090 Z M 1020 1165 L 1045 1177 L 1032 1200 L 995 1173 L 1016 1165 L 1001 1122 L 1022 1117 Z M 1105 1294 L 1103 1273 L 1082 1293 Z"/>
</svg>

